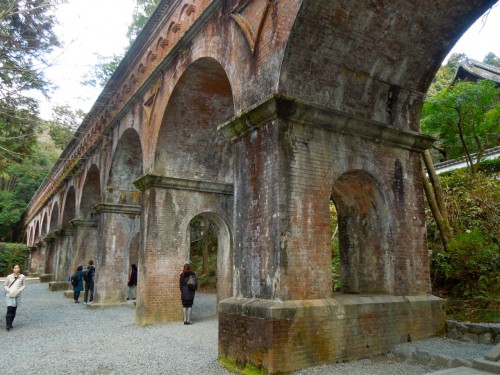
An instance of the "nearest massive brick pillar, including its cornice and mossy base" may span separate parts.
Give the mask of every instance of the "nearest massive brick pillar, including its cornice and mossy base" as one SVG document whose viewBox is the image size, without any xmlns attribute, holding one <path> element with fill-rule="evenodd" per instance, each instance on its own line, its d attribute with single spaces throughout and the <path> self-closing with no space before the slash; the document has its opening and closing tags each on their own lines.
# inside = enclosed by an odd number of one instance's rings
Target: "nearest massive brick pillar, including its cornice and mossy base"
<svg viewBox="0 0 500 375">
<path fill-rule="evenodd" d="M 219 129 L 234 142 L 238 181 L 236 294 L 219 305 L 219 357 L 270 374 L 292 372 L 381 354 L 444 327 L 441 301 L 427 294 L 416 168 L 428 137 L 281 96 Z M 363 178 L 334 189 L 358 174 Z M 346 232 L 343 245 L 358 252 L 353 267 L 382 275 L 378 293 L 370 291 L 367 272 L 349 269 L 366 294 L 332 293 L 333 193 L 347 217 L 357 213 L 358 230 Z M 355 248 L 372 241 L 367 254 Z"/>
</svg>

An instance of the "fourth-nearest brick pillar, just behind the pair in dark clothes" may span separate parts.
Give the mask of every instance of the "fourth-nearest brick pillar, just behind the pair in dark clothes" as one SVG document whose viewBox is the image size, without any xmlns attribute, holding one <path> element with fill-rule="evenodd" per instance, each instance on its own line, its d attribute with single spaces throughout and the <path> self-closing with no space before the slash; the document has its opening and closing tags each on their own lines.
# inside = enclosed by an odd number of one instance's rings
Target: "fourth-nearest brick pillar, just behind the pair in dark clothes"
<svg viewBox="0 0 500 375">
<path fill-rule="evenodd" d="M 71 225 L 75 228 L 75 264 L 88 264 L 90 259 L 97 259 L 97 221 L 74 219 Z"/>
</svg>

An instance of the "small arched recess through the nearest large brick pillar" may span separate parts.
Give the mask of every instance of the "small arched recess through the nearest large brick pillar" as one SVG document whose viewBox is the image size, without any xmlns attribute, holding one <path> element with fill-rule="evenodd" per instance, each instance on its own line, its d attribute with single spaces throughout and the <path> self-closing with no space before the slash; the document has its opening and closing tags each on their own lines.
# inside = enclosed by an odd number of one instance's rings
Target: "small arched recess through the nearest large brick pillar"
<svg viewBox="0 0 500 375">
<path fill-rule="evenodd" d="M 364 171 L 342 174 L 334 183 L 344 293 L 392 294 L 393 254 L 387 202 L 377 181 Z"/>
</svg>

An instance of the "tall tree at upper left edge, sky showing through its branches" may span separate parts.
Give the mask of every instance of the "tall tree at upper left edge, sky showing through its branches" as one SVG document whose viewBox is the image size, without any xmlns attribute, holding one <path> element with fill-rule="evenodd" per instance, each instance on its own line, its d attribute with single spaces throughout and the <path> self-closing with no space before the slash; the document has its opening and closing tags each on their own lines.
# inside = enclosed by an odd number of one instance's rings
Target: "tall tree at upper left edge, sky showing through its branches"
<svg viewBox="0 0 500 375">
<path fill-rule="evenodd" d="M 57 0 L 0 0 L 0 169 L 19 163 L 36 141 L 38 103 L 47 95 L 44 56 L 59 46 L 51 9 Z M 3 172 L 5 173 L 5 171 Z"/>
</svg>

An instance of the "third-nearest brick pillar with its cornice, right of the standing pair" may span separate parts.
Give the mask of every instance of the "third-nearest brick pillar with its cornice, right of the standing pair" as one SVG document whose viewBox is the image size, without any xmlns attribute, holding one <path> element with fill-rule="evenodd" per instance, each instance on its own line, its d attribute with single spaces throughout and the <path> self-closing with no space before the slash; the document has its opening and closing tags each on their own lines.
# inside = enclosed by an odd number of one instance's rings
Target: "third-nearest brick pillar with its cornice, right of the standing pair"
<svg viewBox="0 0 500 375">
<path fill-rule="evenodd" d="M 129 274 L 130 241 L 139 231 L 140 206 L 99 203 L 99 234 L 94 301 L 102 304 L 125 301 Z"/>
</svg>

